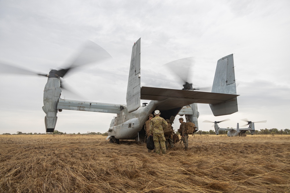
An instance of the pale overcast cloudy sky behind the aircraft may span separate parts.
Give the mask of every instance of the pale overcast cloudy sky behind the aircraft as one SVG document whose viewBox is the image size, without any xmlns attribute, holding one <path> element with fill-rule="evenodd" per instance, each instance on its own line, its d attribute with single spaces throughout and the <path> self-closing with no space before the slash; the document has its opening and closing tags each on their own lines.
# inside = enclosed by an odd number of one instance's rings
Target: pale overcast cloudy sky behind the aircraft
<svg viewBox="0 0 290 193">
<path fill-rule="evenodd" d="M 0 0 L 0 61 L 48 73 L 67 67 L 81 45 L 93 41 L 112 59 L 68 73 L 65 83 L 72 92 L 64 90 L 61 98 L 126 104 L 132 46 L 140 37 L 141 86 L 182 89 L 164 64 L 194 57 L 193 87 L 211 87 L 217 61 L 234 54 L 239 111 L 215 117 L 208 104 L 198 104 L 199 130 L 214 130 L 204 120 L 230 119 L 219 126 L 236 128 L 245 118 L 267 120 L 255 124 L 257 130 L 284 130 L 290 128 L 289 10 L 287 0 Z M 45 133 L 46 81 L 0 73 L 0 134 Z M 104 133 L 114 116 L 64 110 L 55 130 Z"/>
</svg>

